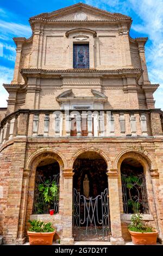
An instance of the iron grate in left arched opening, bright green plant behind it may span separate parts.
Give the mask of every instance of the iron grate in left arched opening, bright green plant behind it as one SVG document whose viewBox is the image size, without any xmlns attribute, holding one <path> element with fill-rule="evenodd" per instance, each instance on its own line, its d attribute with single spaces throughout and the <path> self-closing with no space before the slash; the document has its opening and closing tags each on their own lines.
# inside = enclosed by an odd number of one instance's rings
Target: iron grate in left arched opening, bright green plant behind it
<svg viewBox="0 0 163 256">
<path fill-rule="evenodd" d="M 48 177 L 36 173 L 33 214 L 59 212 L 59 178 L 59 173 Z"/>
</svg>

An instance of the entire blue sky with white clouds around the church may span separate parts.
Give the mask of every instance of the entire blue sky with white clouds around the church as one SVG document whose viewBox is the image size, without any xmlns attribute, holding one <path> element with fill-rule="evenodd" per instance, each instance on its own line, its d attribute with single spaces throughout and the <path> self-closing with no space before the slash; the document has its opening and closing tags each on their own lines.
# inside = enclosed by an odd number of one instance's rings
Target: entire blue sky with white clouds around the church
<svg viewBox="0 0 163 256">
<path fill-rule="evenodd" d="M 29 17 L 78 3 L 76 0 L 1 0 L 0 3 L 0 107 L 7 106 L 3 83 L 12 80 L 15 62 L 13 36 L 32 34 Z M 133 19 L 131 37 L 148 36 L 146 59 L 149 80 L 160 83 L 154 93 L 155 107 L 163 109 L 163 0 L 83 0 L 80 1 Z"/>
</svg>

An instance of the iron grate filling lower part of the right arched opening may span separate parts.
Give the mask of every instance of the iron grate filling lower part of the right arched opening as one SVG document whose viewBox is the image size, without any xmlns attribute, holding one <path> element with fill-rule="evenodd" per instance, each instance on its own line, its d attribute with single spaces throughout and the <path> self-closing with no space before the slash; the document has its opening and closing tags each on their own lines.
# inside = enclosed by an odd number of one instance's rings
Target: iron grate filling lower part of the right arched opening
<svg viewBox="0 0 163 256">
<path fill-rule="evenodd" d="M 149 214 L 145 175 L 121 174 L 124 214 Z"/>
</svg>

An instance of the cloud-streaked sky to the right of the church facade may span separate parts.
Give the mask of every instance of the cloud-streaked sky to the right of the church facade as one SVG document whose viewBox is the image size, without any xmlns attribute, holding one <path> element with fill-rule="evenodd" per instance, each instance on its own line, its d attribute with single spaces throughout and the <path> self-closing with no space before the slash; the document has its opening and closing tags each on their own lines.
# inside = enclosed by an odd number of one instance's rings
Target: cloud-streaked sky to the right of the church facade
<svg viewBox="0 0 163 256">
<path fill-rule="evenodd" d="M 139 23 L 134 19 L 132 28 L 139 32 L 140 36 L 141 33 L 147 34 L 151 41 L 151 45 L 146 47 L 149 80 L 152 83 L 160 83 L 154 94 L 155 107 L 163 109 L 163 0 L 85 0 L 85 3 L 131 17 L 134 13 L 140 18 Z"/>
</svg>

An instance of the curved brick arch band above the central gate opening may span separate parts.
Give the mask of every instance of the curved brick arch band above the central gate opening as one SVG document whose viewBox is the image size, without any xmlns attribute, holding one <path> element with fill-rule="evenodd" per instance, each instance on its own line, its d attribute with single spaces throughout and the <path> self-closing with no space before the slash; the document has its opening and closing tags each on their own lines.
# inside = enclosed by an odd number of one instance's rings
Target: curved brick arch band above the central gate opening
<svg viewBox="0 0 163 256">
<path fill-rule="evenodd" d="M 77 157 L 79 155 L 82 155 L 83 153 L 86 153 L 86 152 L 93 152 L 93 153 L 97 153 L 98 155 L 101 155 L 103 157 L 103 159 L 105 160 L 106 164 L 107 164 L 107 168 L 108 169 L 112 168 L 111 161 L 110 161 L 109 157 L 101 149 L 97 149 L 97 148 L 84 148 L 84 149 L 78 150 L 72 156 L 72 158 L 70 160 L 70 168 L 71 169 L 73 168 L 74 161 L 76 161 Z"/>
</svg>

